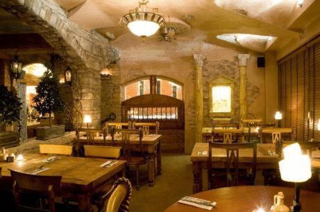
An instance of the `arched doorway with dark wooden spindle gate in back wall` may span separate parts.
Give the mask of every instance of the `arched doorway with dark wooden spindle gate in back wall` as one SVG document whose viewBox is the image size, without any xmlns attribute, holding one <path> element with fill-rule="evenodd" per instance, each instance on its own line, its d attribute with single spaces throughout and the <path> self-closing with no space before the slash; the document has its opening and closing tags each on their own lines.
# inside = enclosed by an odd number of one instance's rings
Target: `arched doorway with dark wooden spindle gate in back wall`
<svg viewBox="0 0 320 212">
<path fill-rule="evenodd" d="M 144 76 L 123 87 L 122 122 L 160 123 L 163 152 L 185 152 L 183 84 L 165 76 Z"/>
</svg>

